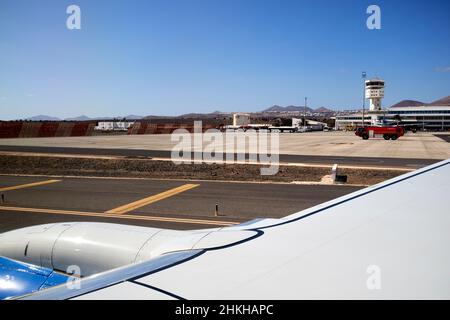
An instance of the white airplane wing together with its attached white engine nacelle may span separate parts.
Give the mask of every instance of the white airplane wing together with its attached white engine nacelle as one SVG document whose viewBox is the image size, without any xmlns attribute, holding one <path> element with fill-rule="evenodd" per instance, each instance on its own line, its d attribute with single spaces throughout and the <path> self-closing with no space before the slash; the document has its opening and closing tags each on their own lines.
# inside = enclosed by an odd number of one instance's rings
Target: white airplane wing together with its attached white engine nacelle
<svg viewBox="0 0 450 320">
<path fill-rule="evenodd" d="M 0 255 L 82 276 L 18 299 L 449 299 L 449 194 L 445 160 L 282 219 L 56 223 L 1 234 Z"/>
</svg>

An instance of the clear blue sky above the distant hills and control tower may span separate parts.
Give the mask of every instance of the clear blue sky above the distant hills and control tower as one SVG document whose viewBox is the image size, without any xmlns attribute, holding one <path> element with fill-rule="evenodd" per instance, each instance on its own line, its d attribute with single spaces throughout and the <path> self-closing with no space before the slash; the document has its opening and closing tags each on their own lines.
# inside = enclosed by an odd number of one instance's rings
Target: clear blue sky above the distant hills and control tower
<svg viewBox="0 0 450 320">
<path fill-rule="evenodd" d="M 81 30 L 66 8 L 81 7 Z M 381 7 L 381 30 L 366 8 Z M 0 119 L 384 106 L 450 95 L 450 1 L 0 0 Z"/>
</svg>

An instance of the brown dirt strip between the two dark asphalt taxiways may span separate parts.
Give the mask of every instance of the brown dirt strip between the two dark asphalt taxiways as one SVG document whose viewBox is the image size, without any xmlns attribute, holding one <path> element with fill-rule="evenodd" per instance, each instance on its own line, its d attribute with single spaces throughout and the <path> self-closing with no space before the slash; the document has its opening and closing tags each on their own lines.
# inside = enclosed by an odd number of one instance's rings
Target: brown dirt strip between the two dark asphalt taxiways
<svg viewBox="0 0 450 320">
<path fill-rule="evenodd" d="M 0 157 L 0 174 L 319 183 L 331 172 L 331 167 L 280 165 L 277 174 L 264 176 L 260 174 L 261 167 L 255 164 L 176 165 L 171 161 L 148 159 L 17 155 Z M 372 185 L 403 174 L 405 171 L 342 168 L 338 173 L 347 175 L 347 184 Z"/>
</svg>

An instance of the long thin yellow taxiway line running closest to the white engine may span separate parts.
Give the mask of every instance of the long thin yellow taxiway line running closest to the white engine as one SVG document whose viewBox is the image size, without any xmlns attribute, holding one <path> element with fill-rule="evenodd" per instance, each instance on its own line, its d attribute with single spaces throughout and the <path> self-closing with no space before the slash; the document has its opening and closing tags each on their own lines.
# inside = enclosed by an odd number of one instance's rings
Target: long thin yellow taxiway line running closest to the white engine
<svg viewBox="0 0 450 320">
<path fill-rule="evenodd" d="M 6 207 L 6 206 L 0 206 L 0 211 L 48 213 L 48 214 L 76 215 L 76 216 L 99 217 L 99 218 L 145 220 L 145 221 L 158 221 L 158 222 L 175 222 L 175 223 L 201 224 L 201 225 L 214 225 L 214 226 L 233 226 L 233 225 L 239 224 L 239 222 L 234 222 L 234 221 L 217 221 L 217 220 L 206 220 L 206 219 L 204 220 L 204 219 L 184 219 L 184 218 L 169 218 L 169 217 L 154 217 L 154 216 L 138 216 L 138 215 L 130 215 L 130 214 L 116 215 L 116 214 L 97 213 L 97 212 Z"/>
</svg>

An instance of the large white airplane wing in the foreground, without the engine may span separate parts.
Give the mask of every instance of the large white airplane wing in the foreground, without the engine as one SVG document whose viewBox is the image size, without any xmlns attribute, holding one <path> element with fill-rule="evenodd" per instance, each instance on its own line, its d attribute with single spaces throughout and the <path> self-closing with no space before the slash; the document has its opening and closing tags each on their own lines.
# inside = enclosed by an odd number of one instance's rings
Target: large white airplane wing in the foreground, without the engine
<svg viewBox="0 0 450 320">
<path fill-rule="evenodd" d="M 449 196 L 445 160 L 283 219 L 226 228 L 220 246 L 22 298 L 449 299 Z"/>
</svg>

